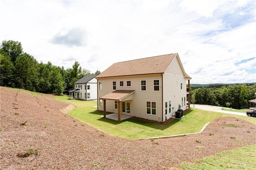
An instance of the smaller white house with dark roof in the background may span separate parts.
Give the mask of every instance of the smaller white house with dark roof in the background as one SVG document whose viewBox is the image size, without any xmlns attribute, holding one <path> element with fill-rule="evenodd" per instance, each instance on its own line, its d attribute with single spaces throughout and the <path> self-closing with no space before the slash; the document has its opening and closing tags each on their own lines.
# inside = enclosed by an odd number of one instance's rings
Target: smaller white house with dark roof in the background
<svg viewBox="0 0 256 170">
<path fill-rule="evenodd" d="M 74 90 L 69 92 L 69 99 L 97 100 L 96 75 L 84 76 L 74 83 Z"/>
</svg>

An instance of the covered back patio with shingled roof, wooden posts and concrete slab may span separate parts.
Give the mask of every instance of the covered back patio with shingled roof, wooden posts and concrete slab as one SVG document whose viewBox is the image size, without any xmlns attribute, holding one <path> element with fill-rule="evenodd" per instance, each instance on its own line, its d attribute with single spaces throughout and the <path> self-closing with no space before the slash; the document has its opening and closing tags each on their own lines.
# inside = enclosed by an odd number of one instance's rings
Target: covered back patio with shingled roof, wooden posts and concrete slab
<svg viewBox="0 0 256 170">
<path fill-rule="evenodd" d="M 103 101 L 103 108 L 104 108 L 104 116 L 105 118 L 107 118 L 106 115 L 106 100 L 114 100 L 114 101 L 118 101 L 118 114 L 114 113 L 115 115 L 117 115 L 117 121 L 122 121 L 121 119 L 121 102 L 122 101 L 128 101 L 128 100 L 133 100 L 134 97 L 134 92 L 135 90 L 116 90 L 113 91 L 111 93 L 108 93 L 107 95 L 104 95 L 101 97 L 102 101 Z M 115 115 L 108 115 L 108 118 L 111 119 L 110 117 L 113 118 L 113 120 L 116 120 L 116 118 L 114 119 Z M 123 120 L 127 115 L 122 115 Z M 128 119 L 128 118 L 126 118 Z"/>
</svg>

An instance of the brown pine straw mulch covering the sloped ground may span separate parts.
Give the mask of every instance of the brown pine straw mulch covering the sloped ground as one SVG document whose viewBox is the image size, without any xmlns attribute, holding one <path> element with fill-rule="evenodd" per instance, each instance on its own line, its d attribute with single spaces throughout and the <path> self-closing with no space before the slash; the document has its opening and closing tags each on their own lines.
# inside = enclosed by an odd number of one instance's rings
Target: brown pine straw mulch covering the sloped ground
<svg viewBox="0 0 256 170">
<path fill-rule="evenodd" d="M 0 91 L 0 169 L 176 169 L 182 161 L 256 144 L 256 126 L 234 117 L 214 119 L 198 134 L 118 138 L 60 112 L 68 103 L 52 95 Z"/>
</svg>

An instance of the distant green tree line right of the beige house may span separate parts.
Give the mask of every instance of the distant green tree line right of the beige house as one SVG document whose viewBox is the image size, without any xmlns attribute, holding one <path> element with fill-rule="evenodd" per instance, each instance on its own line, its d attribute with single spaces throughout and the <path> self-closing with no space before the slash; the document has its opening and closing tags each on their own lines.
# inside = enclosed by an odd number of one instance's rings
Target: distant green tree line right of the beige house
<svg viewBox="0 0 256 170">
<path fill-rule="evenodd" d="M 256 84 L 228 85 L 220 88 L 202 87 L 191 90 L 190 101 L 195 104 L 248 108 L 249 100 L 255 99 Z"/>
</svg>

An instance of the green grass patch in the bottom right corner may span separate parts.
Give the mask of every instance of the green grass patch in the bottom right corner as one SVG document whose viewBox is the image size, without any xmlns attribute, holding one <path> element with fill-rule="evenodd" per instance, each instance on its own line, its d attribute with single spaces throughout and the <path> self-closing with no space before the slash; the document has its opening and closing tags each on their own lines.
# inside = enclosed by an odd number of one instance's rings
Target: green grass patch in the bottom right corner
<svg viewBox="0 0 256 170">
<path fill-rule="evenodd" d="M 256 145 L 243 146 L 195 159 L 192 162 L 182 162 L 180 166 L 184 170 L 253 170 L 256 169 L 255 154 Z"/>
</svg>

